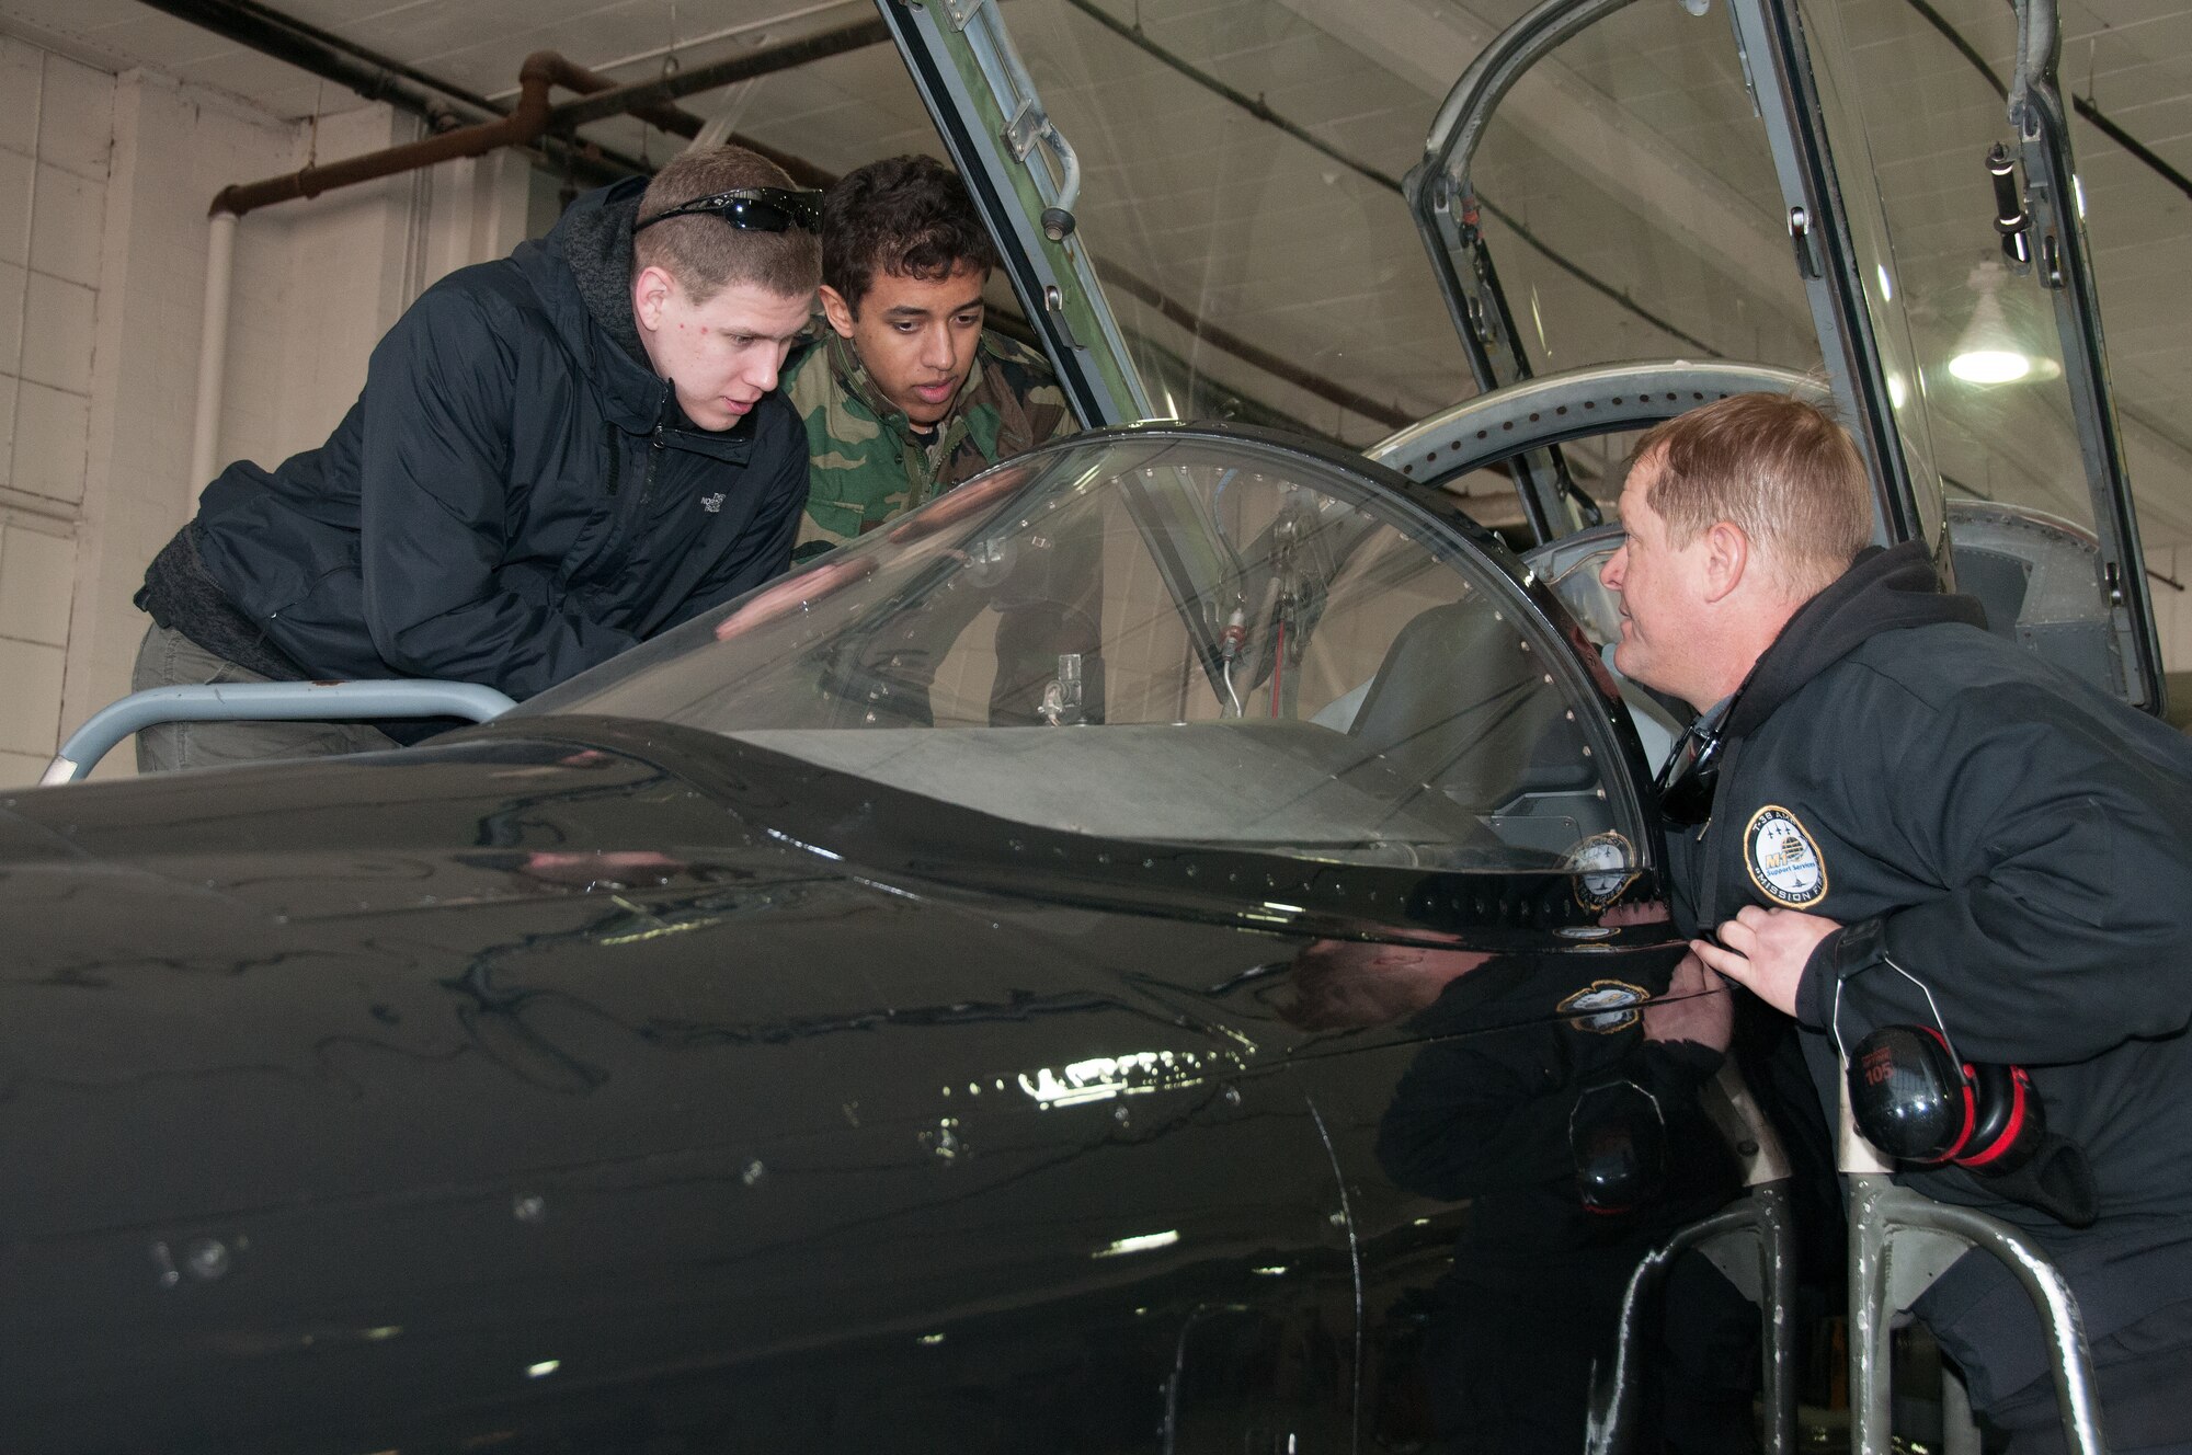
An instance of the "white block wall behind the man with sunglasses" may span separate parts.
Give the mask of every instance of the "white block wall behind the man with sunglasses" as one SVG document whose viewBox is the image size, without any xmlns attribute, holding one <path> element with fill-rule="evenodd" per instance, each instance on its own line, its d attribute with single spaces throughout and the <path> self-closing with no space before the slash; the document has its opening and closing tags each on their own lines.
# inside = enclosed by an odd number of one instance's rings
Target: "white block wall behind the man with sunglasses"
<svg viewBox="0 0 2192 1455">
<path fill-rule="evenodd" d="M 197 508 L 206 208 L 230 182 L 416 138 L 381 105 L 289 123 L 0 35 L 0 787 L 129 690 L 147 561 Z M 524 237 L 500 153 L 239 224 L 219 460 L 318 445 L 441 274 Z M 101 776 L 132 771 L 125 745 Z"/>
</svg>

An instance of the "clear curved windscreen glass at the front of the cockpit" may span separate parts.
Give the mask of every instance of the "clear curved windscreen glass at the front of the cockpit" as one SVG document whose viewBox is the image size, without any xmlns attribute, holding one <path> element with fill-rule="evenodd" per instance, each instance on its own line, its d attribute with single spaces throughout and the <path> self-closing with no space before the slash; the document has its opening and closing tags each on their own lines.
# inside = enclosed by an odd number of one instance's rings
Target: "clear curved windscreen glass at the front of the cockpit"
<svg viewBox="0 0 2192 1455">
<path fill-rule="evenodd" d="M 1008 462 L 520 712 L 666 719 L 1111 839 L 1633 866 L 1633 749 L 1589 671 L 1355 471 L 1144 432 Z"/>
</svg>

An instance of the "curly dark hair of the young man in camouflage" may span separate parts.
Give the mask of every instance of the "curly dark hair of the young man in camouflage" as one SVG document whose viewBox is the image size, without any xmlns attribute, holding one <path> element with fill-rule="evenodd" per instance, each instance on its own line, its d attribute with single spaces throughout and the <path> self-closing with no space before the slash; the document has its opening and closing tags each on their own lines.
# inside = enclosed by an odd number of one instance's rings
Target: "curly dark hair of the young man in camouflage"
<svg viewBox="0 0 2192 1455">
<path fill-rule="evenodd" d="M 995 265 L 997 245 L 967 184 L 936 158 L 868 162 L 822 197 L 822 283 L 855 313 L 877 272 L 936 283 Z"/>
</svg>

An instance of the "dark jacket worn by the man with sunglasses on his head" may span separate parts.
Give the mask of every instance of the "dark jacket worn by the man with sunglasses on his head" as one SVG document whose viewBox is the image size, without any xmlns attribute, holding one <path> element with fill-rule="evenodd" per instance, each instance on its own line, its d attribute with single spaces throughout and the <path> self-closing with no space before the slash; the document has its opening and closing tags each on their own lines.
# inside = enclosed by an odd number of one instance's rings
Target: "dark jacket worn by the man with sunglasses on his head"
<svg viewBox="0 0 2192 1455">
<path fill-rule="evenodd" d="M 309 675 L 524 699 L 785 570 L 807 436 L 776 392 L 677 410 L 631 322 L 642 191 L 430 287 L 322 447 L 206 489 L 204 572 Z"/>
</svg>

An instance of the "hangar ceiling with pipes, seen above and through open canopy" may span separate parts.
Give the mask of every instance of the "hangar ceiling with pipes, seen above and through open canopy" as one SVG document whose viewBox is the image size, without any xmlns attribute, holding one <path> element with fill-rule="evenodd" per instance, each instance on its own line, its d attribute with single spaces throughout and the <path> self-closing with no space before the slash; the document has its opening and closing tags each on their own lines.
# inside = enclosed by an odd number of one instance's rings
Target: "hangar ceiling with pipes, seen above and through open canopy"
<svg viewBox="0 0 2192 1455">
<path fill-rule="evenodd" d="M 872 18 L 868 0 L 278 0 L 276 11 L 449 88 L 509 101 L 528 50 L 616 81 Z M 1460 68 L 1523 0 L 1006 0 L 1052 116 L 1087 164 L 1083 237 L 1144 368 L 1184 414 L 1238 410 L 1355 445 L 1471 383 L 1394 182 Z M 1852 123 L 1894 226 L 1918 388 L 1957 489 L 2087 517 L 2045 379 L 1973 390 L 1946 353 L 1982 298 L 2039 329 L 1988 272 L 1979 158 L 2006 138 L 2006 0 L 1846 0 L 1852 75 L 1927 96 Z M 140 0 L 0 0 L 0 26 L 114 70 L 151 66 L 265 112 L 357 105 Z M 2192 541 L 2192 11 L 2067 0 L 2063 88 L 2150 543 Z M 688 96 L 822 169 L 938 149 L 888 46 Z M 1861 99 L 1852 112 L 1863 112 Z M 1620 357 L 1811 366 L 1762 136 L 1719 7 L 1640 0 L 1508 99 L 1475 171 L 1486 234 L 1539 368 Z M 660 162 L 640 123 L 587 136 Z M 237 177 L 250 180 L 250 177 Z M 1997 270 L 1999 272 L 1999 270 Z M 1192 324 L 1192 326 L 1190 326 Z M 1271 362 L 1287 368 L 1274 370 Z M 2043 359 L 2045 375 L 2045 359 Z M 1585 476 L 1605 460 L 1580 460 Z"/>
</svg>

